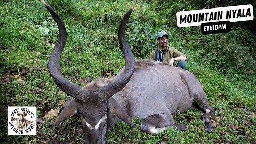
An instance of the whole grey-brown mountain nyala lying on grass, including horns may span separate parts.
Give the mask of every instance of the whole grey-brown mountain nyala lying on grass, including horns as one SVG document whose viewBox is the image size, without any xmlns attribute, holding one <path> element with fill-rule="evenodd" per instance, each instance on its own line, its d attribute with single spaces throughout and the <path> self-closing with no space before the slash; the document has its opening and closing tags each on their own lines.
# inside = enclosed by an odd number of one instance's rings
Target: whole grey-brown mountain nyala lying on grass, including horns
<svg viewBox="0 0 256 144">
<path fill-rule="evenodd" d="M 172 114 L 182 113 L 196 103 L 206 112 L 202 118 L 211 128 L 210 116 L 214 111 L 194 74 L 167 63 L 134 60 L 124 30 L 134 6 L 125 14 L 118 31 L 125 67 L 113 79 L 97 79 L 80 87 L 61 75 L 59 61 L 66 44 L 66 28 L 57 13 L 42 2 L 59 27 L 59 38 L 49 60 L 50 74 L 62 91 L 74 97 L 52 127 L 80 114 L 85 143 L 105 143 L 107 129 L 119 121 L 133 125 L 131 119 L 139 117 L 143 119 L 142 131 L 157 134 L 177 127 Z"/>
</svg>

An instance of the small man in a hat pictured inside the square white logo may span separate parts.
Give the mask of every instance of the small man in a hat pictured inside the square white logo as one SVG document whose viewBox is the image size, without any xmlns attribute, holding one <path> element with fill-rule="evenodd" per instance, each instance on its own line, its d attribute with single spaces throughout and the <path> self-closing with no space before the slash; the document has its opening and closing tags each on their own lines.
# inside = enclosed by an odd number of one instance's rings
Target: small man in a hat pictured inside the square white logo
<svg viewBox="0 0 256 144">
<path fill-rule="evenodd" d="M 17 129 L 27 129 L 31 122 L 25 119 L 25 116 L 27 116 L 25 111 L 21 111 L 21 113 L 18 113 L 17 116 L 19 118 L 11 117 L 11 121 L 15 121 Z"/>
</svg>

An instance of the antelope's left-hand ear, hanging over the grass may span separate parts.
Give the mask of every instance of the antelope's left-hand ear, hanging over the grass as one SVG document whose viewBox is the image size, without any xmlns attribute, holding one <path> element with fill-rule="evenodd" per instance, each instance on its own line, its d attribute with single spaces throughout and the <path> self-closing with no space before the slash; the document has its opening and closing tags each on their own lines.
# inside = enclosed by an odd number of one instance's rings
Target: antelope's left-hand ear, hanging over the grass
<svg viewBox="0 0 256 144">
<path fill-rule="evenodd" d="M 73 98 L 73 100 L 70 100 L 70 102 L 68 104 L 65 104 L 66 106 L 61 111 L 60 115 L 57 117 L 56 121 L 54 122 L 54 124 L 52 125 L 51 128 L 59 125 L 60 123 L 62 123 L 66 119 L 76 115 L 78 113 L 77 103 L 78 103 L 78 100 Z"/>
</svg>

